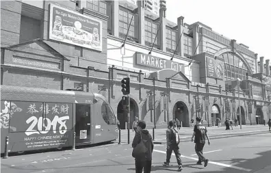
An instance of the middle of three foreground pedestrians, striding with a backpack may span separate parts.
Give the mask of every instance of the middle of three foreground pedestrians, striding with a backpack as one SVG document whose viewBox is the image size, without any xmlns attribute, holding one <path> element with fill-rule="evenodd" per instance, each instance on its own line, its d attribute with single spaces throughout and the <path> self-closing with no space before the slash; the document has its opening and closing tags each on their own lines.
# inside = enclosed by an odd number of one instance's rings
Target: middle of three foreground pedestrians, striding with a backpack
<svg viewBox="0 0 271 173">
<path fill-rule="evenodd" d="M 176 138 L 179 137 L 178 131 L 174 129 L 174 122 L 170 121 L 168 122 L 168 129 L 166 130 L 166 161 L 164 162 L 164 165 L 169 165 L 170 163 L 170 157 L 172 154 L 172 150 L 175 153 L 177 163 L 179 165 L 179 168 L 177 171 L 183 170 L 183 164 L 181 163 L 181 153 L 179 151 L 179 142 L 177 142 Z M 179 139 L 178 139 L 179 140 Z"/>
</svg>

